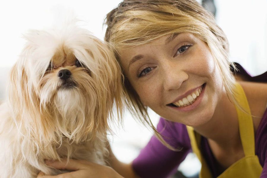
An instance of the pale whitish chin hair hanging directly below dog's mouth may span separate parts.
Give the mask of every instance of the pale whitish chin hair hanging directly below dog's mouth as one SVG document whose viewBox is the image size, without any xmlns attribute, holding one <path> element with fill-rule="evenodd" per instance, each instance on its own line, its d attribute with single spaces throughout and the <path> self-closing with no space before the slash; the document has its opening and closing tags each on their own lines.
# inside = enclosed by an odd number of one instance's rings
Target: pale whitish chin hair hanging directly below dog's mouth
<svg viewBox="0 0 267 178">
<path fill-rule="evenodd" d="M 67 96 L 67 97 L 66 97 Z M 72 140 L 81 142 L 84 141 L 85 113 L 88 111 L 85 98 L 78 88 L 59 89 L 55 95 L 55 120 L 60 133 Z M 90 118 L 90 117 L 89 117 Z"/>
</svg>

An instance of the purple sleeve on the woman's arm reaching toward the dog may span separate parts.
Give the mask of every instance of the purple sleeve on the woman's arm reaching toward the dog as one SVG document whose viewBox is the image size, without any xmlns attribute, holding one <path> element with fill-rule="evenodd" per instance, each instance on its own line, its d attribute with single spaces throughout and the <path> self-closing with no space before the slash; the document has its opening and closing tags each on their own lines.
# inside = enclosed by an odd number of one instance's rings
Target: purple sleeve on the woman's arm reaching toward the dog
<svg viewBox="0 0 267 178">
<path fill-rule="evenodd" d="M 155 136 L 152 136 L 146 147 L 141 150 L 139 156 L 132 163 L 134 171 L 142 178 L 163 178 L 174 174 L 179 164 L 191 151 L 190 139 L 185 125 L 160 118 L 157 130 L 167 143 L 175 148 L 182 148 L 182 150 L 169 150 Z"/>
</svg>

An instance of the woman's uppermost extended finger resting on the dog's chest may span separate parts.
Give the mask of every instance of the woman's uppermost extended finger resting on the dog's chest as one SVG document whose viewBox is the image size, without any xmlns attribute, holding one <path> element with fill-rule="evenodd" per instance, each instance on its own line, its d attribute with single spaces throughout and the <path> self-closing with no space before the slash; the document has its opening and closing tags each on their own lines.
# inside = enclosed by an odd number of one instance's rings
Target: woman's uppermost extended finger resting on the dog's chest
<svg viewBox="0 0 267 178">
<path fill-rule="evenodd" d="M 67 160 L 62 160 L 62 161 L 45 161 L 45 163 L 48 166 L 51 166 L 55 169 L 67 169 L 69 171 L 77 171 L 80 169 L 85 169 L 85 165 L 80 163 L 79 160 L 73 160 L 70 159 L 69 161 Z"/>
</svg>

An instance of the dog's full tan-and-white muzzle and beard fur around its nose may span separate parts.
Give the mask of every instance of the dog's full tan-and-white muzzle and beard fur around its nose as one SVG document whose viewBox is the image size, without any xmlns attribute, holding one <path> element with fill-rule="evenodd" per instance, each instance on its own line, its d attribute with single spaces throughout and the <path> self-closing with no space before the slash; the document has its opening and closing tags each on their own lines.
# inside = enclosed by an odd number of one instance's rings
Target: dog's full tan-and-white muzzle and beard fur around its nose
<svg viewBox="0 0 267 178">
<path fill-rule="evenodd" d="M 96 136 L 93 128 L 95 110 L 101 106 L 96 98 L 96 82 L 84 70 L 69 69 L 73 77 L 67 81 L 58 80 L 53 73 L 45 75 L 40 81 L 40 109 L 43 114 L 50 114 L 44 119 L 48 119 L 48 124 L 54 127 L 58 142 L 66 137 L 79 143 Z M 103 130 L 101 132 L 106 134 Z"/>
</svg>

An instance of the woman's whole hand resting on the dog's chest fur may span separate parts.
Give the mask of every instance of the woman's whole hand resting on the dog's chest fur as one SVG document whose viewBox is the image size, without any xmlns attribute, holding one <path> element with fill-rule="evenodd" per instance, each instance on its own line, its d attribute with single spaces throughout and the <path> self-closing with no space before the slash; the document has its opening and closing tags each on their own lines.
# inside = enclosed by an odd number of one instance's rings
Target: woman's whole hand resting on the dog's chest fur
<svg viewBox="0 0 267 178">
<path fill-rule="evenodd" d="M 85 160 L 62 160 L 59 161 L 46 161 L 48 166 L 55 169 L 69 170 L 71 172 L 59 174 L 57 176 L 45 175 L 40 172 L 37 178 L 122 178 L 114 169 L 109 166 L 103 166 L 96 163 L 91 163 Z"/>
</svg>

